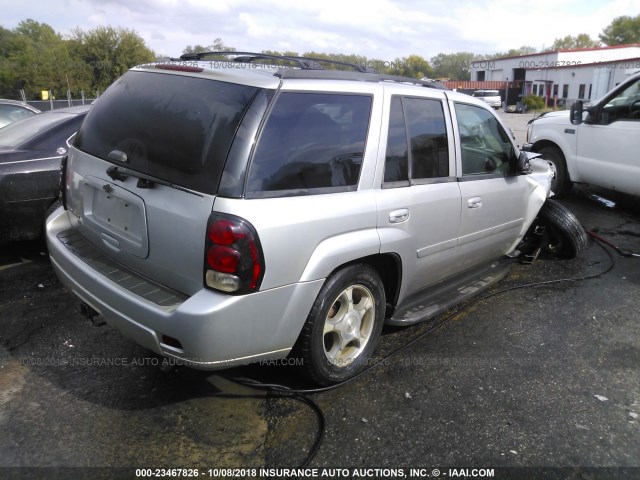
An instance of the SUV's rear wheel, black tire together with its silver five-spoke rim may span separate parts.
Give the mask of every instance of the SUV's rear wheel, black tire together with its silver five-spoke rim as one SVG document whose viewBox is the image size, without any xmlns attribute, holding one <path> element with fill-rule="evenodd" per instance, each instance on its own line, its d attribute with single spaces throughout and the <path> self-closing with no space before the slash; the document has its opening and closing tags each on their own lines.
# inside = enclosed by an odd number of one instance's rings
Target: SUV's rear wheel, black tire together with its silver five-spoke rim
<svg viewBox="0 0 640 480">
<path fill-rule="evenodd" d="M 384 286 L 375 270 L 364 264 L 339 270 L 320 290 L 292 356 L 302 359 L 306 373 L 320 385 L 353 378 L 369 364 L 385 308 Z"/>
</svg>

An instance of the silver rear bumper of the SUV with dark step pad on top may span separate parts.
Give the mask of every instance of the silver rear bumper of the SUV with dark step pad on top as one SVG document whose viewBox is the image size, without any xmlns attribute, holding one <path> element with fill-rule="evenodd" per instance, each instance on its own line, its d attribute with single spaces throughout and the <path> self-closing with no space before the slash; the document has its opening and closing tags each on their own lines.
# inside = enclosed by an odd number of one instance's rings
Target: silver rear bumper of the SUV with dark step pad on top
<svg viewBox="0 0 640 480">
<path fill-rule="evenodd" d="M 125 336 L 194 368 L 214 370 L 284 358 L 323 284 L 316 280 L 242 296 L 203 288 L 190 297 L 176 294 L 173 301 L 152 301 L 110 278 L 124 267 L 92 246 L 84 245 L 79 253 L 81 249 L 65 244 L 72 225 L 62 208 L 47 219 L 46 227 L 51 264 L 67 288 Z M 88 249 L 91 258 L 85 253 Z M 163 343 L 163 335 L 177 339 L 182 348 Z"/>
</svg>

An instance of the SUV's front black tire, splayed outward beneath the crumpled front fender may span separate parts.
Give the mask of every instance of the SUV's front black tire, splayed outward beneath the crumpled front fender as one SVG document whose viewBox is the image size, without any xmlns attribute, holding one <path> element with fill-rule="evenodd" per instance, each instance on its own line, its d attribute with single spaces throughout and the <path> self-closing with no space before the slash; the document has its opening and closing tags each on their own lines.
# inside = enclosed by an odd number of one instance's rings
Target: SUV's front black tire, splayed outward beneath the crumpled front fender
<svg viewBox="0 0 640 480">
<path fill-rule="evenodd" d="M 546 252 L 561 258 L 575 258 L 587 246 L 587 233 L 580 221 L 553 199 L 544 203 L 536 222 L 545 229 Z"/>
</svg>

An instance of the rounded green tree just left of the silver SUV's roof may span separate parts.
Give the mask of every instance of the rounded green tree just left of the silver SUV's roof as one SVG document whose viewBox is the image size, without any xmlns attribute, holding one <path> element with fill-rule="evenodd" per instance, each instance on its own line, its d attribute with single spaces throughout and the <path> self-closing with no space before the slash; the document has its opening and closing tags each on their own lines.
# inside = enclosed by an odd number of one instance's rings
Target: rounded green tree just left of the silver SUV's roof
<svg viewBox="0 0 640 480">
<path fill-rule="evenodd" d="M 97 27 L 73 31 L 70 51 L 91 71 L 92 87 L 103 91 L 129 68 L 153 61 L 155 54 L 134 31 Z"/>
</svg>

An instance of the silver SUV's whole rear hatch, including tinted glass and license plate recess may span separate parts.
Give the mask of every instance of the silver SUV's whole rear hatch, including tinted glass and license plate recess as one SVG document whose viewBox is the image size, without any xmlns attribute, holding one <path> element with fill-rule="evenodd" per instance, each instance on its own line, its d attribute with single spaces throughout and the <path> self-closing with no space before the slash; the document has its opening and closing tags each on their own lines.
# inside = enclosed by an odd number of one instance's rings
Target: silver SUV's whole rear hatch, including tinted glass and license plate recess
<svg viewBox="0 0 640 480">
<path fill-rule="evenodd" d="M 175 70 L 122 76 L 93 106 L 69 153 L 67 206 L 77 231 L 155 282 L 187 295 L 200 290 L 207 220 L 235 133 L 260 90 Z"/>
</svg>

